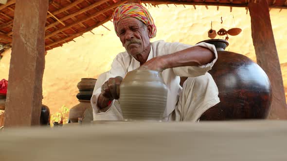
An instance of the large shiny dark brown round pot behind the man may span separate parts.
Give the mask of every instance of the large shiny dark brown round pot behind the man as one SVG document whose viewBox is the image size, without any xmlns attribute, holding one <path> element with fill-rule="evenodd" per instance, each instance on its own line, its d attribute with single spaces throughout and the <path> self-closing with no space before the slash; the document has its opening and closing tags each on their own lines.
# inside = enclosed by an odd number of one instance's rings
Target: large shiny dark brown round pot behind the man
<svg viewBox="0 0 287 161">
<path fill-rule="evenodd" d="M 220 103 L 203 113 L 200 121 L 267 118 L 272 90 L 263 69 L 244 55 L 225 51 L 226 40 L 203 42 L 215 45 L 218 53 L 209 73 L 218 87 Z"/>
</svg>

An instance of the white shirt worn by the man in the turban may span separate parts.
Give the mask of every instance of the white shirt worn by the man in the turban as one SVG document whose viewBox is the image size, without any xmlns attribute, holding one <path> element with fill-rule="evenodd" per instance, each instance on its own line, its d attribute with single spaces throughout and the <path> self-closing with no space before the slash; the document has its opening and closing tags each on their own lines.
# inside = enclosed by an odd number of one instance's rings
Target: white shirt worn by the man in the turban
<svg viewBox="0 0 287 161">
<path fill-rule="evenodd" d="M 179 77 L 197 77 L 201 75 L 205 75 L 208 70 L 212 68 L 217 60 L 217 52 L 214 45 L 208 43 L 199 43 L 196 46 L 201 46 L 205 48 L 209 48 L 211 51 L 215 53 L 215 59 L 205 65 L 201 66 L 181 66 L 175 68 L 168 68 L 162 71 L 162 78 L 168 88 L 167 94 L 167 103 L 166 109 L 163 113 L 163 117 L 165 120 L 168 119 L 168 116 L 175 110 L 176 104 L 179 99 L 179 93 L 181 92 L 181 87 L 179 85 L 180 78 Z M 191 45 L 185 45 L 181 43 L 167 43 L 163 40 L 156 41 L 151 43 L 151 50 L 148 55 L 147 61 L 158 57 L 161 55 L 172 54 L 174 52 L 193 47 Z M 109 78 L 114 78 L 117 76 L 121 76 L 125 78 L 127 72 L 131 70 L 135 70 L 140 67 L 140 62 L 138 62 L 135 58 L 130 56 L 126 51 L 119 53 L 116 58 L 113 60 L 111 64 L 111 69 L 103 73 L 97 80 L 93 95 L 91 97 L 91 105 L 93 108 L 93 117 L 94 120 L 122 120 L 123 117 L 121 115 L 121 109 L 119 108 L 118 100 L 113 100 L 112 103 L 105 108 L 101 112 L 101 110 L 97 106 L 98 97 L 101 94 L 101 85 L 108 81 Z M 217 92 L 218 89 L 216 87 Z M 214 98 L 213 98 L 214 99 Z M 219 101 L 219 98 L 217 98 Z M 217 103 L 218 103 L 217 101 Z"/>
</svg>

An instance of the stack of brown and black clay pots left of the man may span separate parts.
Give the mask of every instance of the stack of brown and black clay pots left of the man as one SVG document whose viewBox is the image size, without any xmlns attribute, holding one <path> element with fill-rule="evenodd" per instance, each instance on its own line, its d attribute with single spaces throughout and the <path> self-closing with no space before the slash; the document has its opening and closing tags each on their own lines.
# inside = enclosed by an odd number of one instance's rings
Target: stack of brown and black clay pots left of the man
<svg viewBox="0 0 287 161">
<path fill-rule="evenodd" d="M 91 109 L 90 98 L 92 96 L 96 81 L 96 79 L 92 78 L 82 78 L 77 84 L 79 93 L 76 97 L 79 100 L 79 104 L 70 109 L 69 119 L 72 123 L 78 122 L 78 118 L 83 118 L 84 112 L 87 109 Z"/>
</svg>

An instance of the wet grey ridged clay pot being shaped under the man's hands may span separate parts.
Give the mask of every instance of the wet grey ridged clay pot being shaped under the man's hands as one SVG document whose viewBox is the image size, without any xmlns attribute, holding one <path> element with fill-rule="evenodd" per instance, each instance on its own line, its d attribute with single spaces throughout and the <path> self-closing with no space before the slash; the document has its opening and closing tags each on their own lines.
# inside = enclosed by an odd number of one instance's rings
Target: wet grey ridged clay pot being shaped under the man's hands
<svg viewBox="0 0 287 161">
<path fill-rule="evenodd" d="M 119 101 L 126 120 L 161 120 L 166 99 L 167 87 L 158 71 L 130 71 L 120 85 Z"/>
</svg>

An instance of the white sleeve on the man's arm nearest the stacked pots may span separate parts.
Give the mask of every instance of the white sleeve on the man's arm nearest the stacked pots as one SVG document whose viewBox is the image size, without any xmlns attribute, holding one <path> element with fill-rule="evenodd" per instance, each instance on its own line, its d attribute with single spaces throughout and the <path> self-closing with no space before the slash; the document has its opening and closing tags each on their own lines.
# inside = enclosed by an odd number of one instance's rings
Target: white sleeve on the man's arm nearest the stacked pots
<svg viewBox="0 0 287 161">
<path fill-rule="evenodd" d="M 111 104 L 100 109 L 97 105 L 98 97 L 101 94 L 101 86 L 104 82 L 108 81 L 109 78 L 114 78 L 117 76 L 125 77 L 126 70 L 124 65 L 124 58 L 118 55 L 111 64 L 111 69 L 108 72 L 102 73 L 95 84 L 92 97 L 90 99 L 91 106 L 93 109 L 93 119 L 97 120 L 122 120 L 123 116 L 121 109 L 117 100 L 113 100 Z"/>
</svg>

